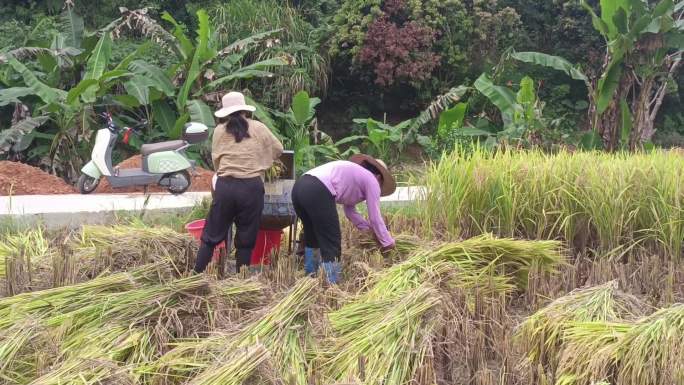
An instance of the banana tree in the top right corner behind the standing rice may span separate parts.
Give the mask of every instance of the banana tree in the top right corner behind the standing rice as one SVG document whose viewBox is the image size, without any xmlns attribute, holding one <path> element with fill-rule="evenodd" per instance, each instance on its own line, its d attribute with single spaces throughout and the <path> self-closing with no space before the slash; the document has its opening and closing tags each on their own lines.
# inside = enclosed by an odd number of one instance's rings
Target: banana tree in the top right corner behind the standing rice
<svg viewBox="0 0 684 385">
<path fill-rule="evenodd" d="M 518 52 L 520 61 L 547 66 L 583 81 L 595 136 L 608 150 L 636 149 L 655 133 L 654 122 L 684 52 L 684 2 L 601 0 L 597 14 L 582 5 L 606 41 L 597 77 L 567 60 L 538 52 Z"/>
</svg>

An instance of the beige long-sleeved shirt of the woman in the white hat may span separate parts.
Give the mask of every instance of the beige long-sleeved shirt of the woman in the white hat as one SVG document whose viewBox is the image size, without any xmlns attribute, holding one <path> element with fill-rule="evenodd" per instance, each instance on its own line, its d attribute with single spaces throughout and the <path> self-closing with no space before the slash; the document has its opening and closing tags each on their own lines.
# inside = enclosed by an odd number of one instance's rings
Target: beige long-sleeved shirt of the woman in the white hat
<svg viewBox="0 0 684 385">
<path fill-rule="evenodd" d="M 235 142 L 233 134 L 219 124 L 214 129 L 211 159 L 219 176 L 246 179 L 260 176 L 283 153 L 283 145 L 263 123 L 247 119 L 249 137 Z"/>
</svg>

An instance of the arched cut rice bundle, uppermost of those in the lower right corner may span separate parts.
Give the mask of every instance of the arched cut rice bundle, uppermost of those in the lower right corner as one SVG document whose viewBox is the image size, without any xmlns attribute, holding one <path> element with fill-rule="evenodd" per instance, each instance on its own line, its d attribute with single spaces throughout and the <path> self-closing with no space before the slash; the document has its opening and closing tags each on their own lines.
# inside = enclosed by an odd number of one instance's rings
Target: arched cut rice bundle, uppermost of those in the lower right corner
<svg viewBox="0 0 684 385">
<path fill-rule="evenodd" d="M 568 328 L 577 322 L 620 322 L 644 314 L 648 307 L 618 290 L 617 281 L 578 289 L 527 317 L 518 327 L 517 342 L 529 363 L 555 371 Z"/>
</svg>

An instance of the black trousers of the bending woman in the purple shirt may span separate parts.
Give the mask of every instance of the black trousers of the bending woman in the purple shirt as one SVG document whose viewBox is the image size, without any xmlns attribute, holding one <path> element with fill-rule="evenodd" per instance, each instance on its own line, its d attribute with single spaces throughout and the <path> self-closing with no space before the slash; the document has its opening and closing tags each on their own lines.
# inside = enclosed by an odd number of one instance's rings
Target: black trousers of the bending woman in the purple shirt
<svg viewBox="0 0 684 385">
<path fill-rule="evenodd" d="M 318 178 L 304 175 L 292 188 L 292 204 L 304 225 L 306 247 L 320 248 L 323 262 L 339 261 L 342 232 L 335 197 Z"/>
</svg>

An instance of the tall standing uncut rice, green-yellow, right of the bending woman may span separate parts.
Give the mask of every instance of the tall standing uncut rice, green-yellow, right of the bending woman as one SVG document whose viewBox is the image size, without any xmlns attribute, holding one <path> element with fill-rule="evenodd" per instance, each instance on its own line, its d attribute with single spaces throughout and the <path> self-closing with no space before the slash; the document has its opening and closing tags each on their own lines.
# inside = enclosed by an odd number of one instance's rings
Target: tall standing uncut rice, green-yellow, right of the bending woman
<svg viewBox="0 0 684 385">
<path fill-rule="evenodd" d="M 491 232 L 617 255 L 640 245 L 678 259 L 683 171 L 667 151 L 456 150 L 430 166 L 422 223 L 446 238 Z"/>
</svg>

